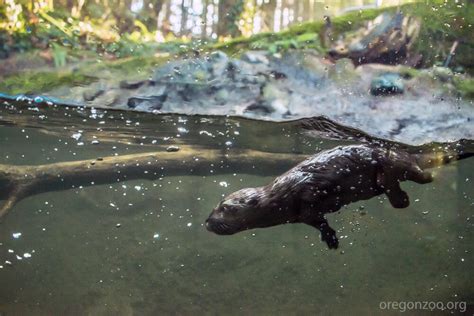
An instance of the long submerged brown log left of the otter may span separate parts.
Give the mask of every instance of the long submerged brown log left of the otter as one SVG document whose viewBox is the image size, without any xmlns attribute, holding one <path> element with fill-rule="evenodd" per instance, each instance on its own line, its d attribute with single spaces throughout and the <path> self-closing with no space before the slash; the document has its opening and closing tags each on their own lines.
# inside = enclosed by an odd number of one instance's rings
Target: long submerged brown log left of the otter
<svg viewBox="0 0 474 316">
<path fill-rule="evenodd" d="M 46 165 L 0 164 L 0 220 L 25 197 L 79 186 L 179 175 L 245 173 L 277 175 L 305 159 L 301 154 L 216 150 L 183 146 L 177 152 L 148 152 Z"/>
</svg>

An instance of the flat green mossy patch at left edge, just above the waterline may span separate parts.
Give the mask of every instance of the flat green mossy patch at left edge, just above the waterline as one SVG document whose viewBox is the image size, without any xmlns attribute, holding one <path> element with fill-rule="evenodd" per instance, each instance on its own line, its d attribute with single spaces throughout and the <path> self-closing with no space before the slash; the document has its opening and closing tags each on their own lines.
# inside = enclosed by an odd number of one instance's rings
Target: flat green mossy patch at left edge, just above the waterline
<svg viewBox="0 0 474 316">
<path fill-rule="evenodd" d="M 23 72 L 8 76 L 0 82 L 0 92 L 12 95 L 41 93 L 62 85 L 88 84 L 95 80 L 76 72 Z"/>
</svg>

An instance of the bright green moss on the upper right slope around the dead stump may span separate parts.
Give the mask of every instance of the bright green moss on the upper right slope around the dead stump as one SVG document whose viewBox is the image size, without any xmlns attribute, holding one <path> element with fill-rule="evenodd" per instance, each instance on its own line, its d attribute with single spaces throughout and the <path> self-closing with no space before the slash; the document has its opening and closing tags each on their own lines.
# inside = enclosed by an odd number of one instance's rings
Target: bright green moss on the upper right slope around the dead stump
<svg viewBox="0 0 474 316">
<path fill-rule="evenodd" d="M 332 34 L 334 38 L 343 33 L 358 30 L 367 21 L 375 19 L 382 12 L 395 12 L 397 7 L 382 9 L 369 9 L 363 11 L 349 12 L 343 16 L 332 19 Z M 474 50 L 474 5 L 456 3 L 454 1 L 428 0 L 424 3 L 408 3 L 400 7 L 400 11 L 406 15 L 420 19 L 421 28 L 418 40 L 415 42 L 413 52 L 423 56 L 424 66 L 432 66 L 436 62 L 443 62 L 449 54 L 449 50 L 458 40 L 461 44 L 456 50 L 453 66 L 462 66 L 467 72 L 474 73 L 473 54 Z M 249 49 L 266 49 L 273 51 L 278 45 L 277 51 L 288 48 L 292 40 L 300 37 L 311 36 L 310 34 L 321 34 L 324 23 L 322 21 L 306 22 L 291 26 L 287 30 L 278 33 L 260 33 L 254 36 L 236 38 L 225 43 L 208 46 L 207 50 L 223 50 L 226 53 L 238 56 Z M 296 41 L 297 42 L 297 41 Z M 290 45 L 293 48 L 316 48 L 324 51 L 318 41 L 311 46 Z"/>
</svg>

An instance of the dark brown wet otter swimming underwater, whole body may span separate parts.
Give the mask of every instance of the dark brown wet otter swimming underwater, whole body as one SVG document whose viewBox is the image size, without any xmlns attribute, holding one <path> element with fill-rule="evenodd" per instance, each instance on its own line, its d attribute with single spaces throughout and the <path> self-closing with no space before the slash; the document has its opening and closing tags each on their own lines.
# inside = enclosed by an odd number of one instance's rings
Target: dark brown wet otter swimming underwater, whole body
<svg viewBox="0 0 474 316">
<path fill-rule="evenodd" d="M 458 143 L 456 143 L 458 144 Z M 450 144 L 452 145 L 452 144 Z M 429 183 L 424 168 L 472 154 L 412 154 L 402 149 L 351 145 L 320 152 L 264 187 L 230 194 L 212 211 L 206 227 L 219 235 L 286 223 L 304 223 L 321 232 L 329 248 L 338 247 L 336 232 L 324 217 L 351 202 L 385 193 L 395 208 L 409 205 L 401 181 Z"/>
</svg>

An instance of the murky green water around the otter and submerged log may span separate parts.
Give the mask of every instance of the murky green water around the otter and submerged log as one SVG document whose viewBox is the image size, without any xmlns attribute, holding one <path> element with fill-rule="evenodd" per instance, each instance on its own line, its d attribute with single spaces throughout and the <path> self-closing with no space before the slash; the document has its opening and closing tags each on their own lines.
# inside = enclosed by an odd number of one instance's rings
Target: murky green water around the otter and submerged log
<svg viewBox="0 0 474 316">
<path fill-rule="evenodd" d="M 309 136 L 295 122 L 0 107 L 0 164 L 9 165 L 169 145 L 312 154 L 354 142 Z M 0 223 L 0 315 L 399 314 L 380 308 L 387 301 L 466 302 L 472 311 L 473 167 L 466 159 L 434 169 L 433 183 L 403 183 L 406 209 L 383 195 L 327 215 L 337 250 L 303 224 L 232 236 L 205 229 L 224 195 L 285 170 L 210 166 L 33 195 Z"/>
</svg>

